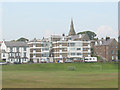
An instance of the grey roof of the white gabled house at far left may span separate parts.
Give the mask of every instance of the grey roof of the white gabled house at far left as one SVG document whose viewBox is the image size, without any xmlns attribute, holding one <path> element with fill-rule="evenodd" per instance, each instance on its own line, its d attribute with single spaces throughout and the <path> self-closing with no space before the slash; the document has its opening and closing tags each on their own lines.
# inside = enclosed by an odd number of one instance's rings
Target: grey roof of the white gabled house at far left
<svg viewBox="0 0 120 90">
<path fill-rule="evenodd" d="M 21 41 L 5 41 L 5 45 L 8 47 L 28 47 L 27 42 Z"/>
</svg>

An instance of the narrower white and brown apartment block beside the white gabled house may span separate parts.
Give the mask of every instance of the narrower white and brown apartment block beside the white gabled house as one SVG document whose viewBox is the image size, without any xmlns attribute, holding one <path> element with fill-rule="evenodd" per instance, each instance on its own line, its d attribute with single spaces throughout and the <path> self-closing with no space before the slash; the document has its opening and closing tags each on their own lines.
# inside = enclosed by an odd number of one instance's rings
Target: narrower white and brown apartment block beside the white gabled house
<svg viewBox="0 0 120 90">
<path fill-rule="evenodd" d="M 34 39 L 30 41 L 30 58 L 34 63 L 40 63 L 42 59 L 49 59 L 51 44 L 47 39 Z"/>
</svg>

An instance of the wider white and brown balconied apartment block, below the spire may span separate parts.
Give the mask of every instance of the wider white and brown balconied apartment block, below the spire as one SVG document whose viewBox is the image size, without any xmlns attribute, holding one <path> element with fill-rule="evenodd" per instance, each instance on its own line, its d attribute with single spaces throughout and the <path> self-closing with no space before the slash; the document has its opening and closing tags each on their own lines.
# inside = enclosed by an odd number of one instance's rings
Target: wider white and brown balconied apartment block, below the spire
<svg viewBox="0 0 120 90">
<path fill-rule="evenodd" d="M 53 42 L 54 61 L 66 59 L 83 60 L 91 56 L 90 41 L 57 41 Z"/>
</svg>

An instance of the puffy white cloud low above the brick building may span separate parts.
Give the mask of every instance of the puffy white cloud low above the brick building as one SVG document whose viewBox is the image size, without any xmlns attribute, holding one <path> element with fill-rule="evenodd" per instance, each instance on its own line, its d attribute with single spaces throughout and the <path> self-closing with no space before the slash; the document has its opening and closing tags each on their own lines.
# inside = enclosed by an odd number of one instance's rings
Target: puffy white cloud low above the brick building
<svg viewBox="0 0 120 90">
<path fill-rule="evenodd" d="M 100 26 L 97 29 L 97 36 L 98 38 L 105 38 L 106 36 L 110 36 L 112 38 L 116 38 L 116 36 L 118 36 L 118 31 L 114 30 L 112 27 L 110 26 Z"/>
</svg>

